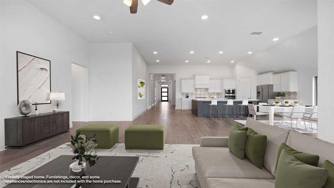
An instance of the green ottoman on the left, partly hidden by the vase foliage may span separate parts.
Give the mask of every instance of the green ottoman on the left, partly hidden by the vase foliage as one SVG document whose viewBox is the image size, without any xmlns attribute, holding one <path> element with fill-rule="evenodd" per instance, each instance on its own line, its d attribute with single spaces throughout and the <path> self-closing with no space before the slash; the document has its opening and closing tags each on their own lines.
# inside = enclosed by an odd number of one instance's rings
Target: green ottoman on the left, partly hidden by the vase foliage
<svg viewBox="0 0 334 188">
<path fill-rule="evenodd" d="M 76 133 L 90 137 L 95 135 L 98 149 L 110 149 L 118 143 L 118 125 L 86 125 L 76 130 Z"/>
</svg>

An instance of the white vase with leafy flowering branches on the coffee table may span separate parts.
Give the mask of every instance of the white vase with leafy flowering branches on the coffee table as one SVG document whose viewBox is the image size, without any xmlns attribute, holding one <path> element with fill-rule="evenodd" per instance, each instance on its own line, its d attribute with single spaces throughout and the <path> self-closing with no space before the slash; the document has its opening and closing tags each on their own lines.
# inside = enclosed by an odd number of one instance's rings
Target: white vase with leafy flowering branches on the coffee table
<svg viewBox="0 0 334 188">
<path fill-rule="evenodd" d="M 86 163 L 82 160 L 85 159 L 89 166 L 94 166 L 99 157 L 95 153 L 92 155 L 92 150 L 95 149 L 98 144 L 97 140 L 93 137 L 86 137 L 83 134 L 78 132 L 75 136 L 71 135 L 71 143 L 67 146 L 72 149 L 75 156 L 72 159 L 75 159 L 75 162 L 69 165 L 69 174 L 74 176 L 83 176 L 87 172 Z"/>
</svg>

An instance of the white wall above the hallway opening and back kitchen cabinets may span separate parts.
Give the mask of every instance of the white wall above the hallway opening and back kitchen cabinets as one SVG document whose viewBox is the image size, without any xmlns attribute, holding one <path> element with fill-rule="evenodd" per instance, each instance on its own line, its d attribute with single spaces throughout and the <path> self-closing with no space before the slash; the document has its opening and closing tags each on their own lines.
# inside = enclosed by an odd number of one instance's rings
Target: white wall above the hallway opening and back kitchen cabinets
<svg viewBox="0 0 334 188">
<path fill-rule="evenodd" d="M 181 109 L 181 79 L 193 78 L 195 74 L 207 74 L 211 79 L 230 78 L 230 66 L 148 66 L 148 73 L 176 73 L 175 105 Z"/>
</svg>

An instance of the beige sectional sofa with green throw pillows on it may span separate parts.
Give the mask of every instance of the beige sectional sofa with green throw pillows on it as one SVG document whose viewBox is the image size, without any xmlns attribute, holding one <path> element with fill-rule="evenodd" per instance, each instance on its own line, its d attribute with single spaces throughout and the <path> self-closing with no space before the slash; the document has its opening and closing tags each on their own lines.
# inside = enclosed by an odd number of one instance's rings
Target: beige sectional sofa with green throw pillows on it
<svg viewBox="0 0 334 188">
<path fill-rule="evenodd" d="M 192 148 L 195 170 L 201 188 L 274 188 L 278 149 L 286 143 L 293 149 L 334 162 L 334 144 L 248 118 L 246 127 L 267 135 L 264 168 L 259 169 L 247 158 L 240 160 L 227 148 L 228 137 L 202 137 L 200 146 Z"/>
</svg>

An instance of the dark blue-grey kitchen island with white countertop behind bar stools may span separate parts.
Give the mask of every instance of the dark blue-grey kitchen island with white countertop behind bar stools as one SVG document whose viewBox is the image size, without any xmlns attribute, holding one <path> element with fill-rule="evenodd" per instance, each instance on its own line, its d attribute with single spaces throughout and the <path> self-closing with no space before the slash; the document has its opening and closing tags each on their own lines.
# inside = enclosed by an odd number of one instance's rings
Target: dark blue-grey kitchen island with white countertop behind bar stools
<svg viewBox="0 0 334 188">
<path fill-rule="evenodd" d="M 192 99 L 191 100 L 191 111 L 193 114 L 195 114 L 197 117 L 205 117 L 209 114 L 208 106 L 211 104 L 212 100 L 217 100 L 218 103 L 218 111 L 219 111 L 219 116 L 221 115 L 226 115 L 226 106 L 224 104 L 227 104 L 226 99 Z M 234 106 L 234 111 L 235 115 L 241 115 L 241 109 L 239 107 L 238 109 L 238 104 L 242 104 L 242 101 L 244 100 L 233 100 L 233 106 Z M 248 100 L 249 104 L 258 104 L 258 100 Z M 212 107 L 212 114 L 214 114 L 215 108 Z M 244 108 L 244 111 L 242 114 L 248 114 L 248 107 Z M 227 107 L 227 115 L 232 114 L 232 108 L 230 106 Z"/>
</svg>

